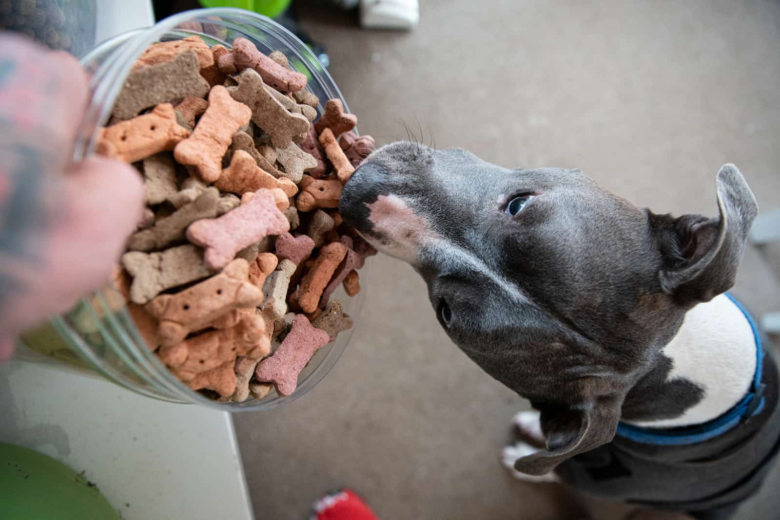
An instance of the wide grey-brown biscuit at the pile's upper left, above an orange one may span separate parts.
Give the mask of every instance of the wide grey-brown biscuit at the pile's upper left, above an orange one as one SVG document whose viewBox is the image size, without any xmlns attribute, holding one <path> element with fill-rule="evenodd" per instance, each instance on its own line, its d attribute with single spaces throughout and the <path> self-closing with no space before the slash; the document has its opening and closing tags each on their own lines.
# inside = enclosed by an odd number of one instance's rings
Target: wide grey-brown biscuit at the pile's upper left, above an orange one
<svg viewBox="0 0 780 520">
<path fill-rule="evenodd" d="M 199 70 L 197 55 L 185 51 L 171 61 L 130 72 L 114 102 L 114 118 L 119 121 L 134 118 L 145 108 L 179 97 L 204 97 L 208 83 Z"/>
</svg>

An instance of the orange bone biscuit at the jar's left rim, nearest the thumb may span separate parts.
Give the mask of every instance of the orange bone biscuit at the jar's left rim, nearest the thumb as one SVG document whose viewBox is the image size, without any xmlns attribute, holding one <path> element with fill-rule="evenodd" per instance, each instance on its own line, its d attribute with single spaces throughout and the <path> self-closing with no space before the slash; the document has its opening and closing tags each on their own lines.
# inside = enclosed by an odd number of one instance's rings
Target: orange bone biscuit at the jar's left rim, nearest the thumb
<svg viewBox="0 0 780 520">
<path fill-rule="evenodd" d="M 159 104 L 149 114 L 105 127 L 97 142 L 97 153 L 134 163 L 155 153 L 172 150 L 190 131 L 176 122 L 170 103 Z"/>
</svg>

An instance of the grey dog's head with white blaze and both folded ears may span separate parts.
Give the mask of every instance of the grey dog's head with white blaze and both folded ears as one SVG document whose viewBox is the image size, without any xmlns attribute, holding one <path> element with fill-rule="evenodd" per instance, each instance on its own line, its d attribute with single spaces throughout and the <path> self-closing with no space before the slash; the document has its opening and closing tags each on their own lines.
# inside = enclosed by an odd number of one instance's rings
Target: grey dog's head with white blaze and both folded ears
<svg viewBox="0 0 780 520">
<path fill-rule="evenodd" d="M 757 205 L 722 167 L 720 216 L 655 215 L 579 170 L 509 170 L 462 149 L 372 153 L 340 211 L 410 263 L 449 337 L 541 409 L 542 474 L 612 440 L 626 393 L 683 315 L 732 286 Z"/>
</svg>

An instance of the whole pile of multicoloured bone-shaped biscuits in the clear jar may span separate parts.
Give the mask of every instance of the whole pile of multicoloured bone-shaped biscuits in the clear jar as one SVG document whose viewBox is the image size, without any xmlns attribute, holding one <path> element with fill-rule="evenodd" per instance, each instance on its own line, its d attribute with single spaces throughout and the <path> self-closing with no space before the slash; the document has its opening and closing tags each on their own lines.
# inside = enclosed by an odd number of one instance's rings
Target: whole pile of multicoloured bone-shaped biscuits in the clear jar
<svg viewBox="0 0 780 520">
<path fill-rule="evenodd" d="M 340 100 L 320 101 L 285 55 L 199 37 L 140 56 L 97 151 L 135 164 L 147 209 L 115 285 L 151 350 L 215 399 L 296 389 L 317 349 L 353 321 L 331 300 L 360 291 L 376 253 L 338 213 L 374 148 Z"/>
</svg>

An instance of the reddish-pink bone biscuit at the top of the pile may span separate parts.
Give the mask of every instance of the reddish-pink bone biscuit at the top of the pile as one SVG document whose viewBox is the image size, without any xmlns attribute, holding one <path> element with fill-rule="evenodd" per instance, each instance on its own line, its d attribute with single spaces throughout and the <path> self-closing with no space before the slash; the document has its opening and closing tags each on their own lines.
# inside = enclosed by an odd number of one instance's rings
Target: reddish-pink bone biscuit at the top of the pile
<svg viewBox="0 0 780 520">
<path fill-rule="evenodd" d="M 246 38 L 233 41 L 233 51 L 223 54 L 218 60 L 219 69 L 226 74 L 236 74 L 242 69 L 254 69 L 266 85 L 282 93 L 297 92 L 306 86 L 306 76 L 300 72 L 286 69 L 276 61 L 257 50 Z"/>
</svg>

